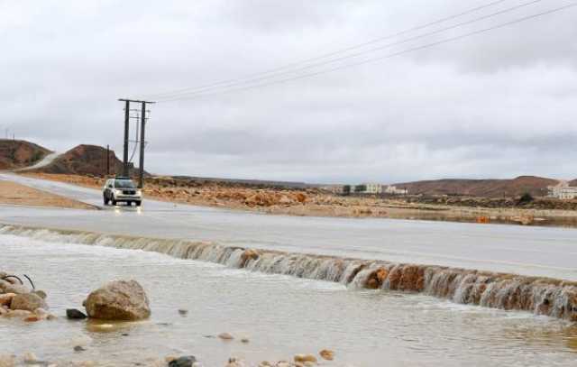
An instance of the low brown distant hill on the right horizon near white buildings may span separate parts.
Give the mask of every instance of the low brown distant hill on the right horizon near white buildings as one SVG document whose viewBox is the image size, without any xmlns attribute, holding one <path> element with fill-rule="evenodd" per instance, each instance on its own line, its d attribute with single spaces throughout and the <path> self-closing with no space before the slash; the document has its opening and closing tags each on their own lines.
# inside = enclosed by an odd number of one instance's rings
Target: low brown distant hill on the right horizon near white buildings
<svg viewBox="0 0 577 367">
<path fill-rule="evenodd" d="M 520 176 L 516 179 L 436 179 L 398 183 L 395 186 L 408 188 L 409 194 L 517 197 L 528 192 L 535 197 L 544 197 L 547 186 L 557 183 L 556 179 Z"/>
</svg>

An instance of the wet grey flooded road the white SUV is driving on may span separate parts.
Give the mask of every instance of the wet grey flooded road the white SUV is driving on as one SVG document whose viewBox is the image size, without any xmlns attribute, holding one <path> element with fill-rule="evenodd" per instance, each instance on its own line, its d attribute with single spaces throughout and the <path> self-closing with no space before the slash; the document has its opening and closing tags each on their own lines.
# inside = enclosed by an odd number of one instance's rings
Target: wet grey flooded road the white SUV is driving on
<svg viewBox="0 0 577 367">
<path fill-rule="evenodd" d="M 0 174 L 3 178 L 101 205 L 94 189 Z M 577 230 L 566 228 L 269 216 L 154 200 L 145 200 L 142 209 L 98 211 L 0 206 L 0 223 L 577 280 Z"/>
</svg>

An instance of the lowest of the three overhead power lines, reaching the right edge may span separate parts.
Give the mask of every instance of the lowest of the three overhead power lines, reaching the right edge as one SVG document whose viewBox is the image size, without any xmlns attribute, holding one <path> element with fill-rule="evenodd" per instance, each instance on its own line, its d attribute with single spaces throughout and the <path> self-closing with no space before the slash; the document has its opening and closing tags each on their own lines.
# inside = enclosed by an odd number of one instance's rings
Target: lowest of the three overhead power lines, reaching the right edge
<svg viewBox="0 0 577 367">
<path fill-rule="evenodd" d="M 386 60 L 386 59 L 391 59 L 393 57 L 399 56 L 399 55 L 403 55 L 409 52 L 415 52 L 417 50 L 425 50 L 425 49 L 429 49 L 435 46 L 438 46 L 440 44 L 444 44 L 444 43 L 448 43 L 448 42 L 452 42 L 452 41 L 458 41 L 458 40 L 462 40 L 463 38 L 467 38 L 467 37 L 471 37 L 473 35 L 477 35 L 477 34 L 481 34 L 481 33 L 485 33 L 485 32 L 490 32 L 490 31 L 494 31 L 500 28 L 504 28 L 507 27 L 509 25 L 512 24 L 516 24 L 516 23 L 522 23 L 522 22 L 526 22 L 528 20 L 531 19 L 535 19 L 538 18 L 540 16 L 544 16 L 544 15 L 548 15 L 548 14 L 554 14 L 554 13 L 558 13 L 561 12 L 563 10 L 572 8 L 573 6 L 577 5 L 577 3 L 571 3 L 569 5 L 564 5 L 564 6 L 560 6 L 542 13 L 538 13 L 538 14 L 532 14 L 532 15 L 527 15 L 524 16 L 522 18 L 517 18 L 513 21 L 509 21 L 506 23 L 500 23 L 497 24 L 495 26 L 491 26 L 489 28 L 484 28 L 478 31 L 473 31 L 473 32 L 468 32 L 468 33 L 464 33 L 462 35 L 459 36 L 455 36 L 455 37 L 450 37 L 450 38 L 446 38 L 444 40 L 441 41 L 435 41 L 435 42 L 431 42 L 431 43 L 427 43 L 425 45 L 421 45 L 421 46 L 417 46 L 417 47 L 413 47 L 407 50 L 401 50 L 398 52 L 394 52 L 394 53 L 390 53 L 388 55 L 384 55 L 384 56 L 380 56 L 378 58 L 372 58 L 372 59 L 367 59 L 367 60 L 362 60 L 359 62 L 355 62 L 352 64 L 346 64 L 346 65 L 342 65 L 339 67 L 335 67 L 333 69 L 325 69 L 325 70 L 321 70 L 321 71 L 317 71 L 314 73 L 308 73 L 308 74 L 303 74 L 303 75 L 299 75 L 293 78 L 284 78 L 284 79 L 279 79 L 279 80 L 274 80 L 268 83 L 261 83 L 261 84 L 257 84 L 257 85 L 253 85 L 253 86 L 248 86 L 248 87 L 238 87 L 238 88 L 232 88 L 232 89 L 224 89 L 224 90 L 220 90 L 220 91 L 215 91 L 213 93 L 207 93 L 207 94 L 203 94 L 203 95 L 197 95 L 197 96 L 180 96 L 180 97 L 175 97 L 175 98 L 171 98 L 171 99 L 166 99 L 162 102 L 173 102 L 173 101 L 179 101 L 179 100 L 187 100 L 187 99 L 195 99 L 197 97 L 200 96 L 213 96 L 215 94 L 220 94 L 220 93 L 230 93 L 230 92 L 237 92 L 237 91 L 243 91 L 243 90 L 248 90 L 248 89 L 253 89 L 253 88 L 259 88 L 259 87 L 268 87 L 274 84 L 279 84 L 279 83 L 287 83 L 289 81 L 293 81 L 293 80 L 298 80 L 301 78 L 310 78 L 310 77 L 315 77 L 317 75 L 321 75 L 321 74 L 326 74 L 326 73 L 330 73 L 330 72 L 334 72 L 336 70 L 340 70 L 340 69 L 346 69 L 346 68 L 353 68 L 355 66 L 359 66 L 359 65 L 363 65 L 363 64 L 367 64 L 370 62 L 375 62 L 375 61 L 379 61 L 379 60 Z"/>
</svg>

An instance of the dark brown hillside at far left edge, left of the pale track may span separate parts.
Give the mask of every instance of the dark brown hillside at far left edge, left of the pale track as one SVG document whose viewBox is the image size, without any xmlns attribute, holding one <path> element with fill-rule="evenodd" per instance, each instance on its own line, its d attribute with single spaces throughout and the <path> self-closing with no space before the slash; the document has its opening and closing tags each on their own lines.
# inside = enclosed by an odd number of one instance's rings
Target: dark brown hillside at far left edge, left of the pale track
<svg viewBox="0 0 577 367">
<path fill-rule="evenodd" d="M 22 140 L 0 139 L 0 170 L 16 170 L 40 161 L 50 151 Z"/>
</svg>

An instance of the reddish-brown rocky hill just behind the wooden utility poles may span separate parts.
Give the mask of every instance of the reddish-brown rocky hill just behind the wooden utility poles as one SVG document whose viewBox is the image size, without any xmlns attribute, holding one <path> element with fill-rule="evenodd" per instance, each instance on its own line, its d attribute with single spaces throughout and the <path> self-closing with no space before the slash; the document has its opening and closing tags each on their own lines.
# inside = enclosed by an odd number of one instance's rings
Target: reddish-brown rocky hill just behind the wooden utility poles
<svg viewBox="0 0 577 367">
<path fill-rule="evenodd" d="M 78 145 L 36 171 L 104 176 L 106 174 L 106 149 L 97 145 Z M 122 161 L 116 158 L 114 151 L 110 151 L 110 174 L 122 174 L 122 171 Z"/>
</svg>

